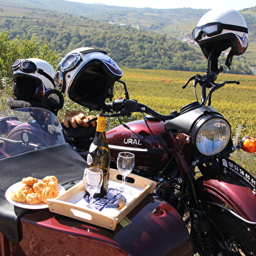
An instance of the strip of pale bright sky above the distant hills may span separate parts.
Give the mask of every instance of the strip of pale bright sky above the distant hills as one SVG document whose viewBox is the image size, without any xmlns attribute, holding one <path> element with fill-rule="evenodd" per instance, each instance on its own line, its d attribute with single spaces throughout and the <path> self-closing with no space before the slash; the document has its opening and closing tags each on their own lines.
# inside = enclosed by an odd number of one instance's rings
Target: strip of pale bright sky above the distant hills
<svg viewBox="0 0 256 256">
<path fill-rule="evenodd" d="M 148 0 L 129 0 L 129 1 L 120 1 L 120 0 L 69 0 L 80 3 L 103 3 L 105 5 L 116 5 L 121 7 L 151 7 L 151 8 L 215 8 L 215 7 L 231 7 L 236 10 L 242 10 L 244 8 L 255 7 L 255 0 L 157 0 L 157 1 L 148 1 Z"/>
</svg>

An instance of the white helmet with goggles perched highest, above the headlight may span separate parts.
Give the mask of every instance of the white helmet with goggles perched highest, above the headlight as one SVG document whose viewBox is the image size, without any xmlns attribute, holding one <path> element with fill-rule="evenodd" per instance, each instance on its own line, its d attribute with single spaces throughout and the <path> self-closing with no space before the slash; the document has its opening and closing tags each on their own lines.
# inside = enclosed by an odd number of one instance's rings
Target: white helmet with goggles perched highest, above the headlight
<svg viewBox="0 0 256 256">
<path fill-rule="evenodd" d="M 226 61 L 229 69 L 232 57 L 243 54 L 248 48 L 246 22 L 232 8 L 214 8 L 206 12 L 193 29 L 192 38 L 199 44 L 207 59 L 217 59 L 222 51 L 231 48 Z"/>
</svg>

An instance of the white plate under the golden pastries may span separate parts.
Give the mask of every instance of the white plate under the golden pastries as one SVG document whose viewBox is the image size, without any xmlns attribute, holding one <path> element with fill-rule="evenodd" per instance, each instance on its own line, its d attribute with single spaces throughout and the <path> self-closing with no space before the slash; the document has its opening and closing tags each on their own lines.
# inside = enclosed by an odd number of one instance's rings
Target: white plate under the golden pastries
<svg viewBox="0 0 256 256">
<path fill-rule="evenodd" d="M 20 208 L 25 208 L 25 209 L 33 209 L 33 210 L 37 210 L 37 209 L 44 209 L 44 208 L 48 208 L 48 204 L 27 204 L 26 202 L 15 202 L 14 200 L 10 199 L 10 193 L 12 193 L 12 191 L 18 190 L 20 189 L 20 187 L 22 187 L 22 185 L 24 185 L 22 182 L 17 182 L 16 184 L 11 185 L 7 191 L 5 192 L 5 197 L 7 199 L 8 202 L 10 202 L 11 204 L 18 206 Z M 59 190 L 59 195 L 63 194 L 66 190 L 62 185 L 57 184 L 57 189 Z"/>
</svg>

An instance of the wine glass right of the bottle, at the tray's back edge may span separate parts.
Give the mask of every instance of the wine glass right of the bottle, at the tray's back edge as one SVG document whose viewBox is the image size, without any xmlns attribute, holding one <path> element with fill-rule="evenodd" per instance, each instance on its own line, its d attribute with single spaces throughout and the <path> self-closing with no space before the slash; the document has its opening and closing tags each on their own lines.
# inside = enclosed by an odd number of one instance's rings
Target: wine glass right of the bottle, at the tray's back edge
<svg viewBox="0 0 256 256">
<path fill-rule="evenodd" d="M 118 153 L 117 166 L 123 178 L 121 186 L 116 187 L 116 191 L 121 193 L 130 193 L 127 187 L 125 187 L 125 178 L 127 174 L 129 174 L 133 170 L 133 167 L 135 166 L 135 155 L 130 152 Z"/>
</svg>

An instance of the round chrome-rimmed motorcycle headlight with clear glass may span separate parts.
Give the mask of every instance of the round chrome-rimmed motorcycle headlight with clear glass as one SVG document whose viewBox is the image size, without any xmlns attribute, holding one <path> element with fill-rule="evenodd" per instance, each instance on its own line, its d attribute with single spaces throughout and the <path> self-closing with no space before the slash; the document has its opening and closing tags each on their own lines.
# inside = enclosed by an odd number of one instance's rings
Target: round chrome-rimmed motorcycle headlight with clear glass
<svg viewBox="0 0 256 256">
<path fill-rule="evenodd" d="M 212 156 L 221 152 L 231 138 L 231 127 L 221 116 L 204 116 L 191 130 L 191 140 L 202 155 Z"/>
</svg>

